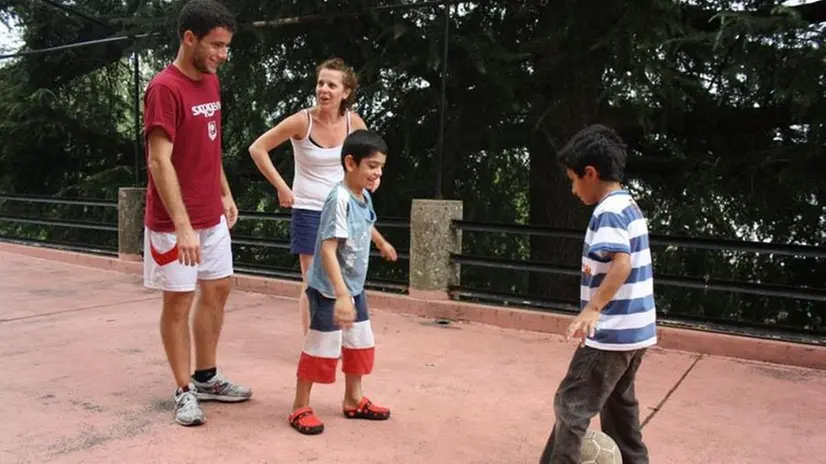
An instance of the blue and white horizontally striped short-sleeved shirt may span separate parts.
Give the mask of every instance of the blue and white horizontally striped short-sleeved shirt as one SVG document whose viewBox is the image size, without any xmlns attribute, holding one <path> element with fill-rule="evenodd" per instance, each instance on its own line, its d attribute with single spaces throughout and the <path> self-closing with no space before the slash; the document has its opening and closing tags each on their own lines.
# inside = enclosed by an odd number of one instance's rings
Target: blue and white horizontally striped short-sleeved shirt
<svg viewBox="0 0 826 464">
<path fill-rule="evenodd" d="M 602 284 L 611 267 L 607 253 L 631 255 L 631 273 L 602 309 L 594 337 L 585 345 L 601 350 L 636 350 L 657 343 L 654 275 L 648 226 L 637 203 L 625 190 L 603 198 L 588 224 L 582 251 L 582 307 Z"/>
</svg>

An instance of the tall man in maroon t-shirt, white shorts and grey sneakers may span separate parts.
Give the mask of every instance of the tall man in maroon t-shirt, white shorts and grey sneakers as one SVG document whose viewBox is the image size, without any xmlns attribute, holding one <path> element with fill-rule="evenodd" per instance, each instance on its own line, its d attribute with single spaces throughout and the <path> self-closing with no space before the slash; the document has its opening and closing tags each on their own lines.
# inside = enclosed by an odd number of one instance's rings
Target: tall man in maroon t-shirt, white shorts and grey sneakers
<svg viewBox="0 0 826 464">
<path fill-rule="evenodd" d="M 252 391 L 216 367 L 230 293 L 229 229 L 238 219 L 221 163 L 221 91 L 215 73 L 227 59 L 235 20 L 215 0 L 192 0 L 179 21 L 175 61 L 144 98 L 148 187 L 144 285 L 162 290 L 161 337 L 175 376 L 175 420 L 206 421 L 199 401 L 238 402 Z M 195 372 L 190 377 L 189 308 L 195 304 Z"/>
</svg>

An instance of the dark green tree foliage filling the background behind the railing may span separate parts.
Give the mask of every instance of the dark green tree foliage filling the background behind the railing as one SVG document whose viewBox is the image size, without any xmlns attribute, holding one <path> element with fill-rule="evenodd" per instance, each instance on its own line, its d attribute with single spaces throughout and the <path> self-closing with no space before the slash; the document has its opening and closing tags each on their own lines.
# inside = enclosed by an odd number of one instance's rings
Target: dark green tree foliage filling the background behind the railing
<svg viewBox="0 0 826 464">
<path fill-rule="evenodd" d="M 78 2 L 75 2 L 78 3 Z M 72 3 L 72 5 L 75 5 Z M 152 33 L 7 61 L 0 84 L 0 188 L 112 197 L 134 172 L 132 53 L 141 89 L 177 50 L 180 1 L 89 0 L 90 22 L 39 0 L 0 1 L 25 49 Z M 413 3 L 397 1 L 394 5 Z M 221 70 L 226 169 L 243 209 L 277 211 L 247 146 L 312 103 L 314 70 L 341 56 L 359 73 L 357 111 L 392 147 L 376 205 L 406 217 L 436 190 L 445 24 L 440 8 L 308 17 L 389 2 L 227 0 L 238 15 Z M 68 5 L 68 3 L 67 3 Z M 302 17 L 257 27 L 255 21 Z M 586 124 L 609 124 L 630 158 L 626 183 L 652 232 L 824 245 L 826 131 L 822 47 L 826 0 L 481 0 L 454 5 L 448 24 L 441 190 L 472 220 L 583 230 L 589 210 L 570 194 L 555 153 Z M 287 144 L 288 145 L 288 144 Z M 274 150 L 288 178 L 288 146 Z M 143 166 L 141 160 L 140 165 Z M 143 182 L 144 172 L 139 172 Z M 9 205 L 4 208 L 10 207 Z M 0 225 L 0 227 L 5 227 Z M 389 229 L 403 249 L 405 230 Z M 242 223 L 239 234 L 286 239 L 285 224 Z M 579 239 L 465 234 L 465 253 L 578 268 Z M 245 262 L 295 266 L 284 250 L 242 247 Z M 654 249 L 660 275 L 823 287 L 823 260 Z M 404 279 L 406 263 L 378 261 Z M 463 284 L 576 301 L 570 276 L 465 267 Z M 666 315 L 703 315 L 823 330 L 822 303 L 658 285 Z"/>
</svg>

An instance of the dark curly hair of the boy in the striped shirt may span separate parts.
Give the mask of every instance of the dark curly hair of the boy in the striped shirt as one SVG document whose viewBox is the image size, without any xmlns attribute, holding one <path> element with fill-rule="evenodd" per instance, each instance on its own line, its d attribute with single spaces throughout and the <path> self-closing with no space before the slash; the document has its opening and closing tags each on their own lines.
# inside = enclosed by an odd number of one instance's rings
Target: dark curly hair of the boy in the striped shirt
<svg viewBox="0 0 826 464">
<path fill-rule="evenodd" d="M 571 137 L 559 151 L 559 162 L 585 175 L 585 167 L 597 171 L 600 180 L 620 182 L 625 175 L 626 145 L 619 134 L 602 124 L 592 124 Z"/>
</svg>

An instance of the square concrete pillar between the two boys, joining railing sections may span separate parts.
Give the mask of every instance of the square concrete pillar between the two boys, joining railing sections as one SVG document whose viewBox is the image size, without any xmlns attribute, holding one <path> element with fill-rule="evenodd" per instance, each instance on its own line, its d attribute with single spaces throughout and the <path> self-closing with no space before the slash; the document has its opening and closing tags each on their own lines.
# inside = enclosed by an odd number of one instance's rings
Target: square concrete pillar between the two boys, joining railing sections
<svg viewBox="0 0 826 464">
<path fill-rule="evenodd" d="M 462 251 L 462 231 L 453 227 L 462 219 L 458 200 L 413 200 L 410 210 L 410 296 L 447 299 L 448 287 L 459 283 L 459 265 L 451 253 Z"/>
</svg>

